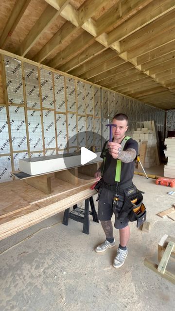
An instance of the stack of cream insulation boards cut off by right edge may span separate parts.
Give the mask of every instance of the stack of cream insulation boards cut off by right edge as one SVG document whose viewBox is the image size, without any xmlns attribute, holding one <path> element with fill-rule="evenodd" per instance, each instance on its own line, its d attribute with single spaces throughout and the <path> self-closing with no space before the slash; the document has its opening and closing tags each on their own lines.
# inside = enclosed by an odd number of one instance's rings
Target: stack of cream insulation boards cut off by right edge
<svg viewBox="0 0 175 311">
<path fill-rule="evenodd" d="M 164 176 L 175 178 L 175 138 L 165 139 L 165 156 L 168 156 L 168 163 L 164 166 Z"/>
</svg>

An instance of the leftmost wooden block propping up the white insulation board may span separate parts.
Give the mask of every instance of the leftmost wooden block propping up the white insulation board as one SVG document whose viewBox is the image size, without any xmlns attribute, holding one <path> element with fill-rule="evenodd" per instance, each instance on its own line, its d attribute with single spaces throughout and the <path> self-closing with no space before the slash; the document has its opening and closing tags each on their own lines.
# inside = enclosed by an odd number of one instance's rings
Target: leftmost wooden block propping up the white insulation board
<svg viewBox="0 0 175 311">
<path fill-rule="evenodd" d="M 32 178 L 24 179 L 24 181 L 32 187 L 43 191 L 44 193 L 50 194 L 52 192 L 51 177 L 48 175 L 35 176 Z"/>
</svg>

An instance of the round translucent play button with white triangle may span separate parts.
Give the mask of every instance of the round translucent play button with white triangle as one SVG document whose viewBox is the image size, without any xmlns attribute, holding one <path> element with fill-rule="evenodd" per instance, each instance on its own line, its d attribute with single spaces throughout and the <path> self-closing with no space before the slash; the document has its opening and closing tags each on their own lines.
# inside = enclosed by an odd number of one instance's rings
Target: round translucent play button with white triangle
<svg viewBox="0 0 175 311">
<path fill-rule="evenodd" d="M 62 155 L 64 166 L 75 177 L 78 170 L 78 180 L 94 179 L 96 163 L 103 161 L 100 155 L 105 139 L 95 132 L 81 131 L 72 136 L 71 132 L 69 127 L 69 140 L 65 146 L 61 146 L 61 149 L 64 148 Z"/>
</svg>

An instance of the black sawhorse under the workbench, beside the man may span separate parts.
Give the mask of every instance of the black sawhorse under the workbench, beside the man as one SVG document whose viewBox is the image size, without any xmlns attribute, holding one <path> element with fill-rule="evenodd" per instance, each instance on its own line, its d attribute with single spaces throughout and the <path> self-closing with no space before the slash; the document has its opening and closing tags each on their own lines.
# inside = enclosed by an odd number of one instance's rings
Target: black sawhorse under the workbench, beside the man
<svg viewBox="0 0 175 311">
<path fill-rule="evenodd" d="M 91 211 L 89 211 L 89 203 Z M 72 211 L 70 211 L 70 208 L 67 208 L 64 212 L 63 225 L 68 225 L 69 218 L 71 218 L 83 223 L 83 233 L 89 234 L 89 214 L 92 215 L 94 222 L 99 223 L 92 196 L 85 200 L 85 209 L 79 208 L 77 204 L 73 206 Z"/>
</svg>

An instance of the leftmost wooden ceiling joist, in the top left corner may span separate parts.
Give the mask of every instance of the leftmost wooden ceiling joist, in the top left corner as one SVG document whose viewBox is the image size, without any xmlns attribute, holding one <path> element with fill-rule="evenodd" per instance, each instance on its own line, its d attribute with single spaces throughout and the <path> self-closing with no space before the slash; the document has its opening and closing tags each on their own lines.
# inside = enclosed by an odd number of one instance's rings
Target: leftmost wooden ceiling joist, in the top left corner
<svg viewBox="0 0 175 311">
<path fill-rule="evenodd" d="M 16 0 L 12 13 L 7 20 L 7 23 L 0 36 L 0 48 L 3 48 L 9 35 L 12 35 L 13 31 L 18 25 L 19 20 L 23 16 L 26 8 L 31 0 Z"/>
</svg>

